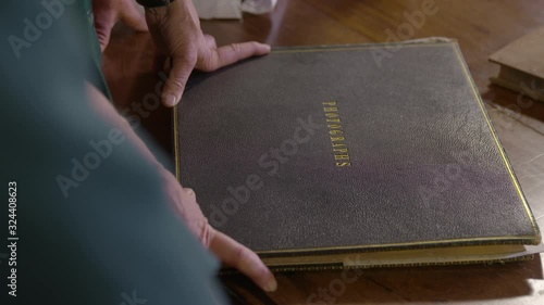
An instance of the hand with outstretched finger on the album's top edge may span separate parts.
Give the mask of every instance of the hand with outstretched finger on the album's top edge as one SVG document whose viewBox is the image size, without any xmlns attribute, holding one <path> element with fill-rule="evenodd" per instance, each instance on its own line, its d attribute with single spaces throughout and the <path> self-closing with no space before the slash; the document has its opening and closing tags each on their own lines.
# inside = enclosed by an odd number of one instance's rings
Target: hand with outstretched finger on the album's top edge
<svg viewBox="0 0 544 305">
<path fill-rule="evenodd" d="M 174 106 L 181 100 L 193 68 L 211 72 L 270 52 L 270 46 L 258 42 L 218 48 L 213 37 L 202 34 L 191 0 L 146 9 L 146 21 L 159 52 L 171 59 L 170 77 L 162 91 L 162 102 L 166 106 Z"/>
</svg>

